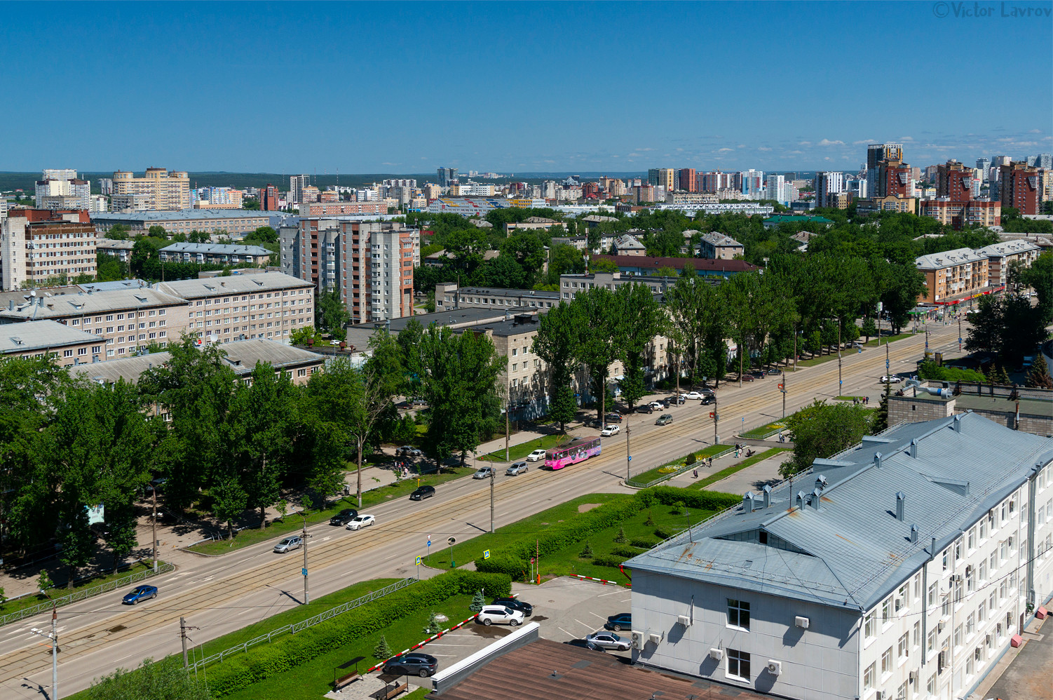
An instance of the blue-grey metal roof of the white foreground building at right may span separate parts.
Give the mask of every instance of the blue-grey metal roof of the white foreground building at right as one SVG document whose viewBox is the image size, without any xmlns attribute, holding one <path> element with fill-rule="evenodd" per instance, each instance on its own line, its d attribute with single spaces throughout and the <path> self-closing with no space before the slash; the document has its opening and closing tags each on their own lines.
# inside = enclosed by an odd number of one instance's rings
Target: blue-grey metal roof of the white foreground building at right
<svg viewBox="0 0 1053 700">
<path fill-rule="evenodd" d="M 694 527 L 693 543 L 683 533 L 627 565 L 867 610 L 1019 488 L 1036 463 L 1053 461 L 1053 440 L 966 413 L 897 426 L 834 456 L 777 486 L 770 508 L 758 494 L 753 512 L 737 506 Z M 813 509 L 819 475 L 828 484 Z M 907 494 L 903 521 L 894 516 L 897 491 Z M 759 530 L 769 545 L 749 541 Z M 771 546 L 776 539 L 789 548 Z"/>
</svg>

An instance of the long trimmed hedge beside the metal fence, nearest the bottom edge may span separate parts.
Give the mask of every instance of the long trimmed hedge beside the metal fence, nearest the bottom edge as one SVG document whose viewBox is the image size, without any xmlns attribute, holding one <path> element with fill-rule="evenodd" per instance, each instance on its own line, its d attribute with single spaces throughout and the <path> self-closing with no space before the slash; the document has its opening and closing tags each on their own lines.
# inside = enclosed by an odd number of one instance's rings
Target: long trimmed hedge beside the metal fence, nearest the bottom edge
<svg viewBox="0 0 1053 700">
<path fill-rule="evenodd" d="M 484 589 L 488 596 L 509 596 L 512 580 L 505 573 L 455 570 L 420 581 L 377 601 L 349 610 L 267 646 L 210 668 L 208 687 L 215 697 L 230 695 L 277 674 L 296 668 L 322 654 L 391 626 L 429 605 L 461 594 Z"/>
</svg>

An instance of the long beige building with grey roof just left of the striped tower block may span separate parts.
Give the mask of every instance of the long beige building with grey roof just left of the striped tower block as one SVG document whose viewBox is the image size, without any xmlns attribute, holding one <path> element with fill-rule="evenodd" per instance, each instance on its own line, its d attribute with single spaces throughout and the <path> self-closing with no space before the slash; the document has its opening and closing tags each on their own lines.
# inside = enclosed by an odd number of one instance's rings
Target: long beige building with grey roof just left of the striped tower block
<svg viewBox="0 0 1053 700">
<path fill-rule="evenodd" d="M 290 331 L 315 324 L 314 285 L 281 272 L 178 279 L 157 291 L 182 303 L 186 332 L 215 343 L 287 343 Z"/>
</svg>

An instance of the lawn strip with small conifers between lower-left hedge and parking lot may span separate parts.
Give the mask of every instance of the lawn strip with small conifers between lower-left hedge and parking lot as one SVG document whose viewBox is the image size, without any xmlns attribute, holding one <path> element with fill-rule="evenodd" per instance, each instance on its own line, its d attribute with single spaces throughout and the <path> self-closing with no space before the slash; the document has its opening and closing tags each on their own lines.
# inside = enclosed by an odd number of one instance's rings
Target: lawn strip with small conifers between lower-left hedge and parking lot
<svg viewBox="0 0 1053 700">
<path fill-rule="evenodd" d="M 455 624 L 472 617 L 469 605 L 471 596 L 454 596 L 434 608 L 421 608 L 413 615 L 399 620 L 383 631 L 392 652 L 398 653 L 428 639 L 424 625 L 428 624 L 432 610 L 450 618 L 445 624 Z M 333 689 L 334 672 L 337 666 L 346 663 L 355 657 L 365 657 L 359 662 L 359 670 L 364 672 L 377 661 L 373 658 L 373 649 L 380 641 L 380 633 L 356 640 L 352 644 L 334 648 L 318 658 L 300 664 L 293 670 L 287 670 L 260 681 L 244 689 L 224 696 L 231 700 L 259 700 L 260 698 L 281 698 L 282 700 L 318 700 Z M 423 652 L 428 652 L 425 646 Z M 441 667 L 441 666 L 440 666 Z M 340 675 L 346 673 L 341 670 Z M 403 696 L 403 698 L 406 696 Z M 417 696 L 421 697 L 421 696 Z"/>
</svg>

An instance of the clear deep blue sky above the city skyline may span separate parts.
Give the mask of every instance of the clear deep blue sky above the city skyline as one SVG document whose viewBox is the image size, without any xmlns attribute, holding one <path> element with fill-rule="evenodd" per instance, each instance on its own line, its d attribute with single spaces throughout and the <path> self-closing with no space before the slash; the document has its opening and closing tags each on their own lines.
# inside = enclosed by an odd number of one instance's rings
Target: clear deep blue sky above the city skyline
<svg viewBox="0 0 1053 700">
<path fill-rule="evenodd" d="M 1053 151 L 1051 6 L 5 3 L 0 170 L 854 170 L 875 140 L 921 167 L 1022 157 Z"/>
</svg>

